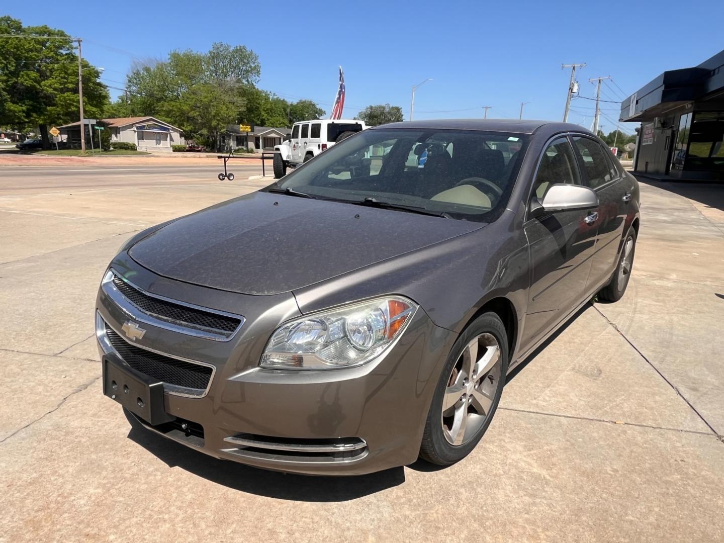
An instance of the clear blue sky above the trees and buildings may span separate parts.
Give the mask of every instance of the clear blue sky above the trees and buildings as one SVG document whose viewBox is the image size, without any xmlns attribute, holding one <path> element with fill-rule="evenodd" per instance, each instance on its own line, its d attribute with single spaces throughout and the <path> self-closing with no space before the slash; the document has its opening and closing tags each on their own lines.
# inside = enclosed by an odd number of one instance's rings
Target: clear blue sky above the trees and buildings
<svg viewBox="0 0 724 543">
<path fill-rule="evenodd" d="M 259 87 L 284 98 L 311 98 L 327 111 L 345 70 L 345 117 L 369 104 L 410 110 L 415 119 L 488 117 L 561 119 L 570 72 L 611 75 L 604 99 L 635 92 L 664 70 L 699 64 L 724 49 L 724 1 L 638 2 L 203 2 L 75 1 L 7 4 L 25 25 L 46 24 L 83 38 L 83 56 L 123 87 L 134 59 L 164 59 L 172 49 L 207 51 L 214 41 L 245 45 L 261 62 Z M 258 6 L 258 7 L 255 7 Z M 280 12 L 287 6 L 289 11 Z M 337 25 L 342 21 L 342 25 Z M 711 21 L 712 24 L 704 24 Z M 111 96 L 117 91 L 111 90 Z M 590 126 L 594 102 L 573 102 L 569 120 Z M 600 122 L 615 128 L 618 104 Z M 608 118 L 606 118 L 606 116 Z M 630 132 L 633 125 L 625 125 Z"/>
</svg>

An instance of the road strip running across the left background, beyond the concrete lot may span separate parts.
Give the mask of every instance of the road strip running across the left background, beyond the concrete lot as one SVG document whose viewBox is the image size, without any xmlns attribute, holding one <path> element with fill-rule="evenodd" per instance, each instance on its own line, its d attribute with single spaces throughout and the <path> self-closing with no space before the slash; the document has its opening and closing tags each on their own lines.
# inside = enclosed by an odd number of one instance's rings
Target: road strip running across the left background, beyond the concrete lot
<svg viewBox="0 0 724 543">
<path fill-rule="evenodd" d="M 271 164 L 267 166 L 271 174 Z M 261 175 L 261 164 L 230 163 L 228 170 L 238 180 L 247 179 Z M 216 176 L 223 171 L 222 161 L 218 166 L 7 166 L 0 167 L 0 191 L 218 183 Z"/>
</svg>

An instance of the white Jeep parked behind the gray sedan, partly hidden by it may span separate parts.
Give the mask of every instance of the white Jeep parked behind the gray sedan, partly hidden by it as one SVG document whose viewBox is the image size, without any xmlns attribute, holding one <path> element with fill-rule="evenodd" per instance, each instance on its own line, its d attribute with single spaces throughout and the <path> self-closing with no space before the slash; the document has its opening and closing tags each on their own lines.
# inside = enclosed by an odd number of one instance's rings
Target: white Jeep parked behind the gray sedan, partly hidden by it
<svg viewBox="0 0 724 543">
<path fill-rule="evenodd" d="M 279 179 L 287 174 L 287 168 L 313 159 L 322 151 L 340 143 L 355 132 L 367 128 L 362 121 L 345 119 L 319 119 L 297 122 L 292 126 L 292 135 L 281 145 L 274 147 L 274 177 Z"/>
</svg>

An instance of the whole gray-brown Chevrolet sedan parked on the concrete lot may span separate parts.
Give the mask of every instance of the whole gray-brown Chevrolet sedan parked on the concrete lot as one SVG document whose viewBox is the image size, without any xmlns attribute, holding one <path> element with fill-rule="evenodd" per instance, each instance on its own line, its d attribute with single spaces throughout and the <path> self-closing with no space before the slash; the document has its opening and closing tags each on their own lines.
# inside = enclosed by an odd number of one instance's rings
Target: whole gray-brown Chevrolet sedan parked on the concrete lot
<svg viewBox="0 0 724 543">
<path fill-rule="evenodd" d="M 638 232 L 636 180 L 578 125 L 365 130 L 121 248 L 96 303 L 104 394 L 261 468 L 448 465 L 506 374 L 623 295 Z"/>
</svg>

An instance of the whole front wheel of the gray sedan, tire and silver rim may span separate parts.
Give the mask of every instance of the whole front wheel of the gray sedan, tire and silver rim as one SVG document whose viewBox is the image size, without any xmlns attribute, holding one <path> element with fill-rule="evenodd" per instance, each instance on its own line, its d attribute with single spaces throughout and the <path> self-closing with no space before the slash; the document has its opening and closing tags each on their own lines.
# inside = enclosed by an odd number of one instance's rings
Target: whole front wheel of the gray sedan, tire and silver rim
<svg viewBox="0 0 724 543">
<path fill-rule="evenodd" d="M 507 337 L 495 313 L 484 313 L 460 334 L 432 399 L 422 458 L 450 466 L 470 454 L 483 437 L 505 385 Z"/>
</svg>

